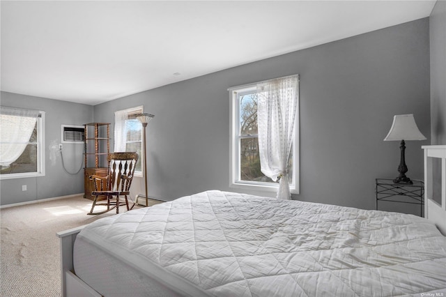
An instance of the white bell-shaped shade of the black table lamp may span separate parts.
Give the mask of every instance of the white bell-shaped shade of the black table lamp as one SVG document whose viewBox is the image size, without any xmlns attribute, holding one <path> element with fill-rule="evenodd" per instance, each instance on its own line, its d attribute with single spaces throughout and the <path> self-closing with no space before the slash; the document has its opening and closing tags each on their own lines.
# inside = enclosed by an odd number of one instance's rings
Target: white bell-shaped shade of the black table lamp
<svg viewBox="0 0 446 297">
<path fill-rule="evenodd" d="M 393 117 L 392 128 L 384 141 L 424 140 L 426 137 L 417 127 L 413 114 L 401 114 Z"/>
</svg>

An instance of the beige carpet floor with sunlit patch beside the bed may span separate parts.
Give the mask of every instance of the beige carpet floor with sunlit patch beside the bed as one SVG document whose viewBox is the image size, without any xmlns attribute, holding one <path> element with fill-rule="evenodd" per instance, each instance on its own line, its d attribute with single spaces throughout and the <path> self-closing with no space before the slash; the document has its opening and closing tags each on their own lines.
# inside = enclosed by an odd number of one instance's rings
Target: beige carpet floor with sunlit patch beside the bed
<svg viewBox="0 0 446 297">
<path fill-rule="evenodd" d="M 91 200 L 79 195 L 1 209 L 0 296 L 61 296 L 56 232 L 116 214 L 86 215 L 90 208 Z"/>
</svg>

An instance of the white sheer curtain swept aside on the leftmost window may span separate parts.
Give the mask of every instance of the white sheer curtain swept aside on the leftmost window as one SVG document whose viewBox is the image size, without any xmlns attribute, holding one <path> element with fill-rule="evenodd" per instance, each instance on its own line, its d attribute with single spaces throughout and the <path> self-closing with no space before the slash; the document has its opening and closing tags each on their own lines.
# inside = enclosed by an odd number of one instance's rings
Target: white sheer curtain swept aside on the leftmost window
<svg viewBox="0 0 446 297">
<path fill-rule="evenodd" d="M 9 166 L 22 155 L 36 126 L 38 110 L 0 107 L 0 165 Z"/>
</svg>

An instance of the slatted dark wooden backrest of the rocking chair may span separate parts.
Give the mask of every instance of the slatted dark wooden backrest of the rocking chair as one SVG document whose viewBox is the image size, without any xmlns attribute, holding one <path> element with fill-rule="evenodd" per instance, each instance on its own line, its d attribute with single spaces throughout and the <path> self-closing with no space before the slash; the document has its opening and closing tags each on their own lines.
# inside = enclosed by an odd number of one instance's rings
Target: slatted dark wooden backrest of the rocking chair
<svg viewBox="0 0 446 297">
<path fill-rule="evenodd" d="M 109 153 L 107 161 L 109 161 L 107 190 L 121 192 L 130 190 L 138 154 L 135 152 Z"/>
</svg>

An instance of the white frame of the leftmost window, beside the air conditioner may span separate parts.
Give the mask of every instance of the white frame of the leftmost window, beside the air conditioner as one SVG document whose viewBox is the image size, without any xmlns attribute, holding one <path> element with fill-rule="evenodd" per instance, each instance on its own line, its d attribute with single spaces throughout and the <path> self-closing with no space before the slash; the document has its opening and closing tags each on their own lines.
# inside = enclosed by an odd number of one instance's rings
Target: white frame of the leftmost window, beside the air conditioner
<svg viewBox="0 0 446 297">
<path fill-rule="evenodd" d="M 0 181 L 14 178 L 30 178 L 45 176 L 45 112 L 39 110 L 37 124 L 37 171 L 36 172 L 20 172 L 16 174 L 0 174 Z M 34 144 L 34 142 L 29 142 Z"/>
</svg>

